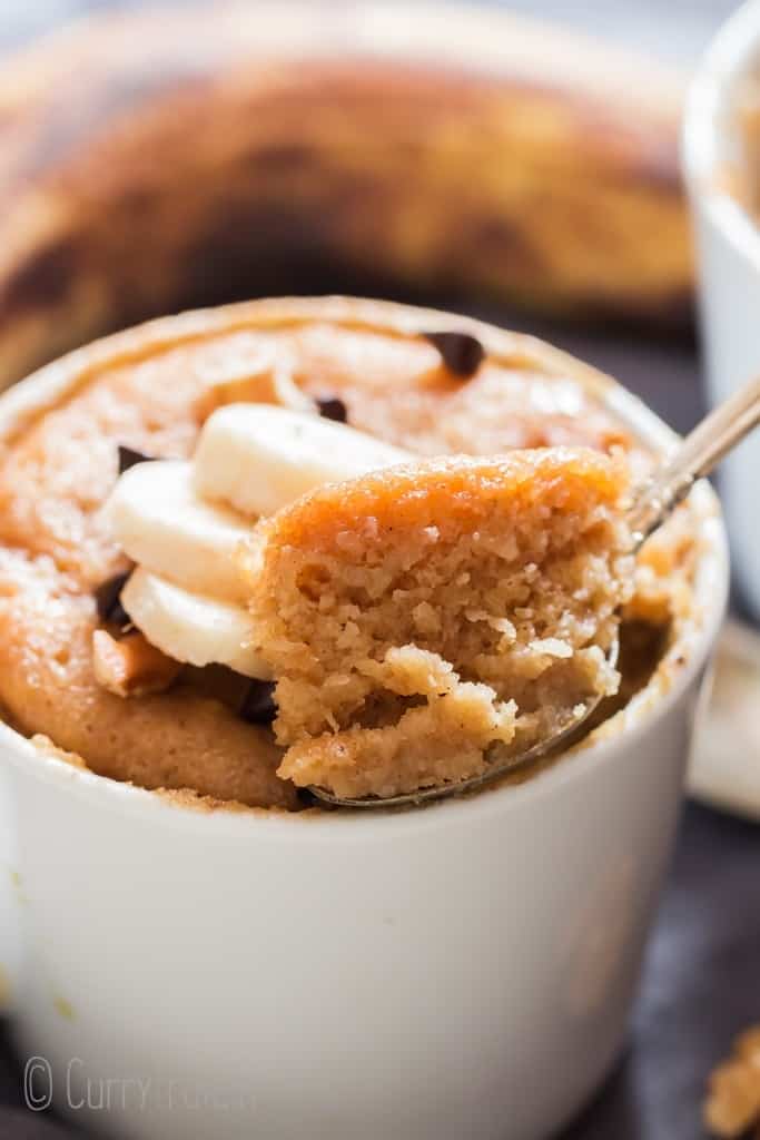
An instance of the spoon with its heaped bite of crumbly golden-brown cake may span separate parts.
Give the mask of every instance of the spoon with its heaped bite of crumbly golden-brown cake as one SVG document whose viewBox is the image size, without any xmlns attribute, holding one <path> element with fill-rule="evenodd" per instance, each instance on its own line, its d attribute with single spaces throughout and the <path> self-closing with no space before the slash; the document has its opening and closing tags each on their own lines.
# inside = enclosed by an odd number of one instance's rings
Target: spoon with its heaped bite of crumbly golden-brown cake
<svg viewBox="0 0 760 1140">
<path fill-rule="evenodd" d="M 583 448 L 452 457 L 317 488 L 243 556 L 279 774 L 337 806 L 469 791 L 557 748 L 619 685 L 645 539 L 760 420 L 760 380 L 631 495 Z"/>
</svg>

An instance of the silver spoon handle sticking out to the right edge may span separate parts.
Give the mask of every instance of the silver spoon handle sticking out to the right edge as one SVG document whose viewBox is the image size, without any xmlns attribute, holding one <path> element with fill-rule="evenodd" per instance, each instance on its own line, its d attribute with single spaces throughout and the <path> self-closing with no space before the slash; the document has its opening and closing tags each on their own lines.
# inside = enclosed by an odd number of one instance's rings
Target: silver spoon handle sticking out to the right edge
<svg viewBox="0 0 760 1140">
<path fill-rule="evenodd" d="M 760 376 L 720 404 L 686 437 L 639 491 L 629 513 L 636 548 L 685 498 L 692 484 L 760 423 Z"/>
</svg>

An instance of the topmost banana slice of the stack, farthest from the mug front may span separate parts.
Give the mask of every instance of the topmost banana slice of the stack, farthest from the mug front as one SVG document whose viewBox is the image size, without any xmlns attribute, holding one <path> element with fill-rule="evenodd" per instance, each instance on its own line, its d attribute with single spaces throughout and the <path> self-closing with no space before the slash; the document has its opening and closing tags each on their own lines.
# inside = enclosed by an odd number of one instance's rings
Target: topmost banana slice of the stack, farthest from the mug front
<svg viewBox="0 0 760 1140">
<path fill-rule="evenodd" d="M 410 458 L 346 424 L 263 404 L 231 404 L 214 412 L 201 433 L 195 489 L 244 514 L 268 515 L 321 483 Z"/>
</svg>

